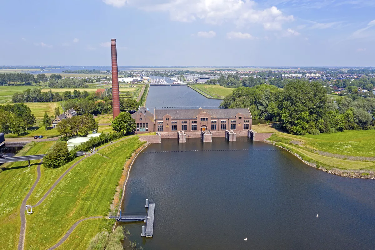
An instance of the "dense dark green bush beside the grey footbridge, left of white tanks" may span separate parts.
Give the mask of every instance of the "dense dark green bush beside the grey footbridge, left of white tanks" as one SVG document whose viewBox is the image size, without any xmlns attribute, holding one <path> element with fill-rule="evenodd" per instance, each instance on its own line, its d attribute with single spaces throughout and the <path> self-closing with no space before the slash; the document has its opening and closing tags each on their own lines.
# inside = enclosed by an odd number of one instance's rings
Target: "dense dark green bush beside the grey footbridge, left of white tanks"
<svg viewBox="0 0 375 250">
<path fill-rule="evenodd" d="M 55 169 L 63 166 L 69 159 L 69 151 L 65 142 L 57 141 L 51 149 L 47 152 L 47 155 L 43 157 L 43 166 Z"/>
</svg>

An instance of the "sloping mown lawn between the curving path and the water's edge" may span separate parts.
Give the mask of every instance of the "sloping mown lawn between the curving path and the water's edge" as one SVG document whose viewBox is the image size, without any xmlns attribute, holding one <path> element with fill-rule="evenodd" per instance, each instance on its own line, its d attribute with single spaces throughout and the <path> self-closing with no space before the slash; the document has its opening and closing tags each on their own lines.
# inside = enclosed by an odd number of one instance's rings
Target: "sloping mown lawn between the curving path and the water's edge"
<svg viewBox="0 0 375 250">
<path fill-rule="evenodd" d="M 108 215 L 124 163 L 142 144 L 132 137 L 99 150 L 110 159 L 95 154 L 75 166 L 27 216 L 25 249 L 51 247 L 77 220 Z"/>
</svg>

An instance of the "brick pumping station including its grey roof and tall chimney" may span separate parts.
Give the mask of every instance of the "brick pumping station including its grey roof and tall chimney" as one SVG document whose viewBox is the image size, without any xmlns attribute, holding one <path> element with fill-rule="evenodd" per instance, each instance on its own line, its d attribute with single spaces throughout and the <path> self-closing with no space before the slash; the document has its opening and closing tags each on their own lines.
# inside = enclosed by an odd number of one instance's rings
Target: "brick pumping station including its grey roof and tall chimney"
<svg viewBox="0 0 375 250">
<path fill-rule="evenodd" d="M 120 113 L 118 89 L 118 67 L 116 39 L 111 39 L 113 119 Z M 251 130 L 252 116 L 248 108 L 225 109 L 154 109 L 145 107 L 132 114 L 136 122 L 136 134 L 155 132 L 155 138 L 147 137 L 154 143 L 160 139 L 177 138 L 186 142 L 187 138 L 201 138 L 212 142 L 212 137 L 225 137 L 236 141 L 236 136 L 248 136 L 252 140 L 263 140 L 272 133 L 256 133 Z"/>
</svg>

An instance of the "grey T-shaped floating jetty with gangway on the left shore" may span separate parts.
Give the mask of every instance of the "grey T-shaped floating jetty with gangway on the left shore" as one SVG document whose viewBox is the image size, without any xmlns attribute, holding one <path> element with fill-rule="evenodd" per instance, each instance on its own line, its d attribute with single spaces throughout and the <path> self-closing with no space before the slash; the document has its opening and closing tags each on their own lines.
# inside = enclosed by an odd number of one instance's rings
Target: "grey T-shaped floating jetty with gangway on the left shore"
<svg viewBox="0 0 375 250">
<path fill-rule="evenodd" d="M 115 219 L 120 222 L 143 221 L 146 223 L 142 226 L 141 236 L 152 238 L 154 231 L 155 202 L 146 199 L 147 213 L 123 213 L 120 209 L 118 216 L 109 216 L 109 219 Z"/>
</svg>

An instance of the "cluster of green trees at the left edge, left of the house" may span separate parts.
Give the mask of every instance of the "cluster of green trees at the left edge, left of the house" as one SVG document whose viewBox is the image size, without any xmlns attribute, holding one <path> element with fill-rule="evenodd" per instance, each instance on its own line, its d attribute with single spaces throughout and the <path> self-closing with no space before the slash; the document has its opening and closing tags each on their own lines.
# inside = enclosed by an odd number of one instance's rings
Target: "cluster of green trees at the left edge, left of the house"
<svg viewBox="0 0 375 250">
<path fill-rule="evenodd" d="M 0 105 L 0 131 L 21 134 L 35 123 L 35 116 L 25 104 Z"/>
</svg>

